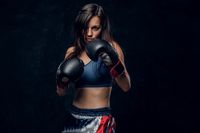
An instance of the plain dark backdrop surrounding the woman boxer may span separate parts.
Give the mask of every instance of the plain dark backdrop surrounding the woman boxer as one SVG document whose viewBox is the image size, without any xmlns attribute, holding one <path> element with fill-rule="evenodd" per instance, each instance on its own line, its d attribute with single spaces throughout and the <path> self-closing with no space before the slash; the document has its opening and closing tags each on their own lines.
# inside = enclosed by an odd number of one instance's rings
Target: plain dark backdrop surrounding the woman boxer
<svg viewBox="0 0 200 133">
<path fill-rule="evenodd" d="M 119 133 L 194 132 L 199 122 L 199 5 L 191 0 L 0 2 L 1 133 L 59 133 L 73 92 L 55 72 L 86 3 L 102 5 L 121 44 L 132 88 L 114 86 Z"/>
</svg>

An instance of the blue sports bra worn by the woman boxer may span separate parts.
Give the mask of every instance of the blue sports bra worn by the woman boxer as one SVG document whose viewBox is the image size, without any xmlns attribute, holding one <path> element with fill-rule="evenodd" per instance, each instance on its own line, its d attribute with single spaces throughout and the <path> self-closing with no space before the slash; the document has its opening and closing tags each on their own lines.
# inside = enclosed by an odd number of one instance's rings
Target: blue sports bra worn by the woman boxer
<svg viewBox="0 0 200 133">
<path fill-rule="evenodd" d="M 76 82 L 77 88 L 82 87 L 111 87 L 112 77 L 101 58 L 98 61 L 90 61 L 84 66 L 80 79 Z"/>
</svg>

